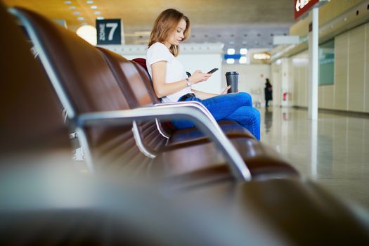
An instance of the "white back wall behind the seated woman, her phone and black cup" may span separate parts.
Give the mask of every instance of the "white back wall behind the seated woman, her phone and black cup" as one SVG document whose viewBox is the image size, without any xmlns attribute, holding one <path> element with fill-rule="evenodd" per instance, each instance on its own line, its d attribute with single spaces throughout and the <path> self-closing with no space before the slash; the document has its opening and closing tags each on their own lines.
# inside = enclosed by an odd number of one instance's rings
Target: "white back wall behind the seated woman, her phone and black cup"
<svg viewBox="0 0 369 246">
<path fill-rule="evenodd" d="M 270 65 L 222 65 L 223 44 L 181 44 L 181 53 L 178 59 L 181 61 L 186 71 L 191 74 L 195 70 L 208 72 L 213 68 L 219 68 L 214 72 L 207 82 L 202 82 L 193 86 L 193 89 L 209 93 L 220 93 L 226 88 L 226 72 L 238 71 L 239 91 L 251 93 L 254 102 L 264 105 L 264 84 L 266 78 L 270 77 Z M 119 53 L 125 58 L 146 58 L 147 48 L 144 45 L 125 46 L 103 46 L 111 51 Z M 271 80 L 273 84 L 273 80 Z"/>
</svg>

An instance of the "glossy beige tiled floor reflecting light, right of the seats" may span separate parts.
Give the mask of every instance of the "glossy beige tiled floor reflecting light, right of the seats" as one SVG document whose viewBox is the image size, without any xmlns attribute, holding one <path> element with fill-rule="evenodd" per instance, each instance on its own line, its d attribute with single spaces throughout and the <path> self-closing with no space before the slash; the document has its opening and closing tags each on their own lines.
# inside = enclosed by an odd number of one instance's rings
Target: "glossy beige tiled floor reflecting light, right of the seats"
<svg viewBox="0 0 369 246">
<path fill-rule="evenodd" d="M 369 118 L 265 108 L 261 141 L 273 146 L 302 176 L 347 202 L 369 209 Z"/>
</svg>

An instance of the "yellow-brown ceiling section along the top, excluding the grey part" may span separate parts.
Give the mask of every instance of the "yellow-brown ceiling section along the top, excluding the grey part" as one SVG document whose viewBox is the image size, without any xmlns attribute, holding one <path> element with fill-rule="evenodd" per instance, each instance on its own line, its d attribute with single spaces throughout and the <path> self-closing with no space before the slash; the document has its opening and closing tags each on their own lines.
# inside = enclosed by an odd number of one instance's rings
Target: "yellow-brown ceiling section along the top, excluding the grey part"
<svg viewBox="0 0 369 246">
<path fill-rule="evenodd" d="M 293 0 L 4 0 L 8 6 L 24 6 L 52 19 L 63 19 L 71 30 L 87 22 L 94 25 L 95 11 L 101 11 L 105 18 L 121 18 L 128 29 L 151 27 L 157 15 L 165 8 L 177 8 L 194 25 L 219 25 L 240 23 L 291 23 L 293 22 Z M 91 5 L 98 6 L 91 9 Z M 70 9 L 75 6 L 75 9 Z M 73 13 L 78 11 L 80 15 Z M 85 20 L 77 20 L 78 16 Z M 141 28 L 142 29 L 142 28 Z"/>
</svg>

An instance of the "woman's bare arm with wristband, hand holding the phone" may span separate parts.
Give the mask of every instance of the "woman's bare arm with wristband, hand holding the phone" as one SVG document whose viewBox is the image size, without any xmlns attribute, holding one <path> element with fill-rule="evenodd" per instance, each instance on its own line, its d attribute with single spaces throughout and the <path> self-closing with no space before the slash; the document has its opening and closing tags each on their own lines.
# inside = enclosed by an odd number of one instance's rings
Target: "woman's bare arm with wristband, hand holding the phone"
<svg viewBox="0 0 369 246">
<path fill-rule="evenodd" d="M 158 98 L 171 95 L 187 87 L 186 79 L 182 79 L 174 83 L 165 83 L 167 62 L 164 60 L 151 65 L 151 70 L 153 74 L 154 91 Z M 196 71 L 188 79 L 190 80 L 191 84 L 197 84 L 199 82 L 203 82 L 209 79 L 209 77 L 211 76 L 212 75 L 210 74 L 205 74 L 200 71 Z"/>
</svg>

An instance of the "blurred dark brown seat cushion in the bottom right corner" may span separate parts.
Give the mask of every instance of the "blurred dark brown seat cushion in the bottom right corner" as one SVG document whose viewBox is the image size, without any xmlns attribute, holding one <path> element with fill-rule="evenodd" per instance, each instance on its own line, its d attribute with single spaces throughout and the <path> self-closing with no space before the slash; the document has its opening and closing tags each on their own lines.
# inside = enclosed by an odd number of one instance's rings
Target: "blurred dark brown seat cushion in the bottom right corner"
<svg viewBox="0 0 369 246">
<path fill-rule="evenodd" d="M 313 181 L 269 179 L 237 184 L 223 182 L 183 189 L 186 191 L 175 190 L 173 193 L 178 194 L 176 197 L 186 206 L 193 207 L 205 200 L 207 205 L 216 205 L 224 218 L 240 221 L 244 226 L 251 222 L 248 228 L 240 225 L 245 232 L 255 229 L 254 236 L 249 235 L 250 238 L 262 235 L 270 240 L 253 241 L 251 245 L 369 243 L 368 211 L 348 207 Z M 255 218 L 258 218 L 257 221 L 254 221 Z M 219 230 L 222 228 L 224 225 Z M 235 245 L 244 244 L 248 245 L 245 242 Z"/>
</svg>

